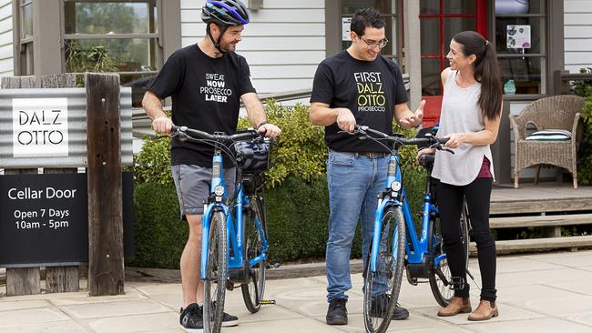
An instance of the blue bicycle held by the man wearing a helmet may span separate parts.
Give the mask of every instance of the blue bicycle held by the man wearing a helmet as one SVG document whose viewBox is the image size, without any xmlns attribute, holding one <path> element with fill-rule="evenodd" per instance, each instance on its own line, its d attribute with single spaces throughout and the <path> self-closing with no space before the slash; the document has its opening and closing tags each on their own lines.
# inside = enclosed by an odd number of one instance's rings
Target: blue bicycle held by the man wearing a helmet
<svg viewBox="0 0 592 333">
<path fill-rule="evenodd" d="M 240 285 L 251 313 L 262 304 L 268 251 L 262 171 L 269 166 L 270 141 L 253 129 L 227 136 L 173 126 L 170 136 L 214 146 L 210 195 L 201 219 L 200 276 L 204 332 L 218 333 L 227 288 Z M 223 155 L 237 166 L 232 196 L 225 187 Z"/>
</svg>

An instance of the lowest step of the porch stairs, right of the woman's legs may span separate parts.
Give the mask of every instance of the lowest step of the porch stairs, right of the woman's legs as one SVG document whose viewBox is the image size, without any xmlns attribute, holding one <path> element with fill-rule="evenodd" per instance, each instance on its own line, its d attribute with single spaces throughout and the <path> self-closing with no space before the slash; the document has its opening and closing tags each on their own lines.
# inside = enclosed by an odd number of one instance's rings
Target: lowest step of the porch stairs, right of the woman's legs
<svg viewBox="0 0 592 333">
<path fill-rule="evenodd" d="M 526 252 L 534 250 L 550 250 L 568 247 L 592 247 L 592 236 L 547 237 L 532 239 L 498 240 L 495 242 L 497 254 Z M 471 255 L 476 254 L 475 242 L 471 242 Z"/>
</svg>

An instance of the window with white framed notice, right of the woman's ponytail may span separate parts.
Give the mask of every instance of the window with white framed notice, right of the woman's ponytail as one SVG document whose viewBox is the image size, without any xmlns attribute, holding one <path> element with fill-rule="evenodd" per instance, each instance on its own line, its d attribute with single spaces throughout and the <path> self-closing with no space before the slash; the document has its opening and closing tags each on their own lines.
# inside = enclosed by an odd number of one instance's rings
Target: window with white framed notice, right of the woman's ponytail
<svg viewBox="0 0 592 333">
<path fill-rule="evenodd" d="M 495 0 L 495 50 L 515 94 L 546 94 L 546 1 Z"/>
</svg>

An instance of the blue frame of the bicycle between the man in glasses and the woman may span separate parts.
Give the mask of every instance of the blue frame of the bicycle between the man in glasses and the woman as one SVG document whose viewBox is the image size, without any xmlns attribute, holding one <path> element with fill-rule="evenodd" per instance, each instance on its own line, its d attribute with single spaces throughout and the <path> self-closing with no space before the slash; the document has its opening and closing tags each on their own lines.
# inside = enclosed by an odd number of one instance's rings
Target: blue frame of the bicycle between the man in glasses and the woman
<svg viewBox="0 0 592 333">
<path fill-rule="evenodd" d="M 437 208 L 432 203 L 432 195 L 429 191 L 424 194 L 424 206 L 422 210 L 422 234 L 418 239 L 415 233 L 415 226 L 413 224 L 413 216 L 407 197 L 405 195 L 405 188 L 403 186 L 403 175 L 400 166 L 400 156 L 398 149 L 395 149 L 395 154 L 391 155 L 388 162 L 388 172 L 386 176 L 385 190 L 383 197 L 379 198 L 378 208 L 374 215 L 374 230 L 373 239 L 380 239 L 380 233 L 383 227 L 384 212 L 388 207 L 402 207 L 403 218 L 405 226 L 407 227 L 407 234 L 405 242 L 405 250 L 407 253 L 408 264 L 422 264 L 424 262 L 425 254 L 428 253 L 428 229 L 430 227 L 430 216 L 437 214 Z M 394 231 L 397 232 L 396 229 Z M 396 239 L 396 237 L 395 237 Z M 410 246 L 411 243 L 411 246 Z M 373 242 L 371 248 L 370 267 L 372 272 L 376 271 L 377 260 L 379 257 L 380 242 Z M 396 249 L 393 244 L 393 253 Z M 434 257 L 434 267 L 446 258 L 446 255 Z"/>
</svg>

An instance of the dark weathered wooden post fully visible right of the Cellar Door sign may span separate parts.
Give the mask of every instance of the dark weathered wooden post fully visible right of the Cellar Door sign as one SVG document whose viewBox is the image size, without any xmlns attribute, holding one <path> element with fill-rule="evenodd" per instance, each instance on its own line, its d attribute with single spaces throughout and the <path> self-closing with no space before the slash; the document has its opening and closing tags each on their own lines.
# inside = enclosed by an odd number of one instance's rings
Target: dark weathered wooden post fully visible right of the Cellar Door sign
<svg viewBox="0 0 592 333">
<path fill-rule="evenodd" d="M 124 292 L 119 76 L 85 75 L 87 87 L 88 289 Z"/>
</svg>

